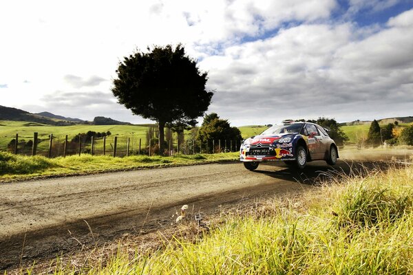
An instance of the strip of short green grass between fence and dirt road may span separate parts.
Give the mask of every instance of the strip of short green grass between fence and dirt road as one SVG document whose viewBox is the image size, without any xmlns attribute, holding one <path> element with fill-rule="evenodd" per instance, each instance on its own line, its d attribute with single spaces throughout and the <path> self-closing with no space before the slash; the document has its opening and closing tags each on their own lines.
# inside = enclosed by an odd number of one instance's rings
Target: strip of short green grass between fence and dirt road
<svg viewBox="0 0 413 275">
<path fill-rule="evenodd" d="M 229 162 L 238 159 L 239 153 L 176 154 L 173 157 L 134 155 L 129 157 L 92 156 L 82 154 L 47 158 L 13 155 L 0 151 L 0 182 L 30 179 L 33 177 L 65 176 L 134 170 L 162 166 L 191 165 L 212 162 Z"/>
</svg>

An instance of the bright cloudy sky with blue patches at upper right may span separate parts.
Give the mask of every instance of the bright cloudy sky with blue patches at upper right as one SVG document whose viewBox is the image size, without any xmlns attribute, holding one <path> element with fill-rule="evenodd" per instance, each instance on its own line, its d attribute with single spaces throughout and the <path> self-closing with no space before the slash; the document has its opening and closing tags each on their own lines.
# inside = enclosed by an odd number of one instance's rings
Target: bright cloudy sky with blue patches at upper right
<svg viewBox="0 0 413 275">
<path fill-rule="evenodd" d="M 0 105 L 147 122 L 116 68 L 177 43 L 234 126 L 413 115 L 413 0 L 1 1 Z"/>
</svg>

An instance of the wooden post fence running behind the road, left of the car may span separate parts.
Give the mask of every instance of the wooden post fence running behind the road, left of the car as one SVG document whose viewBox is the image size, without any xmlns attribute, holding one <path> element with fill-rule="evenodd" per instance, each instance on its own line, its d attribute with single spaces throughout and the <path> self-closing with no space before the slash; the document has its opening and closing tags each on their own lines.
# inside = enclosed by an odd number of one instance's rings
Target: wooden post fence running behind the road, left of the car
<svg viewBox="0 0 413 275">
<path fill-rule="evenodd" d="M 54 136 L 52 133 L 47 138 L 40 139 L 38 133 L 33 133 L 32 139 L 27 141 L 27 137 L 21 138 L 16 134 L 14 140 L 8 144 L 7 150 L 14 154 L 21 155 L 43 155 L 47 157 L 66 157 L 67 155 L 112 155 L 113 157 L 124 157 L 129 155 L 158 155 L 159 148 L 157 139 L 142 139 L 130 136 L 114 135 L 104 137 L 87 137 L 85 135 L 75 135 L 72 140 L 68 140 L 68 135 Z M 142 142 L 144 140 L 144 142 Z M 174 155 L 181 153 L 193 155 L 196 153 L 227 153 L 238 151 L 242 140 L 208 140 L 200 142 L 198 140 L 182 140 L 176 137 L 173 140 L 169 135 L 165 140 L 164 155 Z"/>
</svg>

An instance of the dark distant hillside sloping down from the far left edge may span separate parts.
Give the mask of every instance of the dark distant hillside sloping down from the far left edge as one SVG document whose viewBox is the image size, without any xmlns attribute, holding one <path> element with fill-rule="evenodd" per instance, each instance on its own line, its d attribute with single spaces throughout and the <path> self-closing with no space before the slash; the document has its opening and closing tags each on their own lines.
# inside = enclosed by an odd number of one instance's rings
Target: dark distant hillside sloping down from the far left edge
<svg viewBox="0 0 413 275">
<path fill-rule="evenodd" d="M 4 106 L 0 106 L 0 120 L 29 121 L 56 126 L 74 124 L 74 122 L 46 118 L 45 116 L 29 113 L 28 111 Z"/>
</svg>

